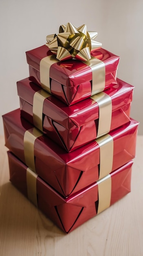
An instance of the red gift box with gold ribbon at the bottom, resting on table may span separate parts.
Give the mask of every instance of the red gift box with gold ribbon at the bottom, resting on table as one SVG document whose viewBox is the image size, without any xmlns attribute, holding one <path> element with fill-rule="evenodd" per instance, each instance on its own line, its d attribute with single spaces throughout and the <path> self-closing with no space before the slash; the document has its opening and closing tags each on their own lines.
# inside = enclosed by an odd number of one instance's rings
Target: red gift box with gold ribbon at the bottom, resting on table
<svg viewBox="0 0 143 256">
<path fill-rule="evenodd" d="M 10 180 L 60 229 L 69 233 L 130 192 L 132 161 L 91 186 L 63 198 L 8 152 Z M 32 176 L 32 177 L 31 177 Z"/>
</svg>

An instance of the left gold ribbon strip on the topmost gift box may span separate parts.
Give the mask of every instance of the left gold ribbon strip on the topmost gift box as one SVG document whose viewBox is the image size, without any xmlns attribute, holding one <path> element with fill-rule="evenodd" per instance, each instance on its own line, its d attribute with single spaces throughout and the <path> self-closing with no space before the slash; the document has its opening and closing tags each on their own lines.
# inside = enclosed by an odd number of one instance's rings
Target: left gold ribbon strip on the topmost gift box
<svg viewBox="0 0 143 256">
<path fill-rule="evenodd" d="M 59 62 L 55 55 L 46 56 L 40 61 L 40 82 L 44 90 L 51 93 L 50 88 L 50 67 L 54 63 Z"/>
</svg>

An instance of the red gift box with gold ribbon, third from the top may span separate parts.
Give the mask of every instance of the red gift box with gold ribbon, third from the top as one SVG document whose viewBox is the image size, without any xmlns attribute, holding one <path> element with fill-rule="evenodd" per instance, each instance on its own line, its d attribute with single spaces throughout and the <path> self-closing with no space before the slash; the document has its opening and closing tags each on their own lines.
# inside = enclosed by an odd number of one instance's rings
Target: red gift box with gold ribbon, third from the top
<svg viewBox="0 0 143 256">
<path fill-rule="evenodd" d="M 65 197 L 105 177 L 135 156 L 139 123 L 133 119 L 70 153 L 20 118 L 20 109 L 3 115 L 3 123 L 7 148 Z"/>
</svg>

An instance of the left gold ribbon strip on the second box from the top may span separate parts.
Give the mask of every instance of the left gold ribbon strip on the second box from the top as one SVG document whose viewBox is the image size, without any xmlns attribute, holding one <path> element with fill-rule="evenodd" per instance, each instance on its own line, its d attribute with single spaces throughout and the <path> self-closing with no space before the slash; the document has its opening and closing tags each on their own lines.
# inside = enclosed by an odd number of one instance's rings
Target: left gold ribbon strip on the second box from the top
<svg viewBox="0 0 143 256">
<path fill-rule="evenodd" d="M 51 94 L 44 90 L 35 92 L 33 97 L 33 123 L 39 130 L 43 131 L 43 104 L 44 100 L 50 97 Z"/>
</svg>

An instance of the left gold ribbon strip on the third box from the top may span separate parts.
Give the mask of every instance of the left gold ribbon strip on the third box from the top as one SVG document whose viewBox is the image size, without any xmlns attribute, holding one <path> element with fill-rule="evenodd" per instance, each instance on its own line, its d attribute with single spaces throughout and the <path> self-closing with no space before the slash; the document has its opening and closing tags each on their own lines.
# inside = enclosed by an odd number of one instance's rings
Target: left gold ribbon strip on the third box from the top
<svg viewBox="0 0 143 256">
<path fill-rule="evenodd" d="M 26 165 L 35 171 L 35 159 L 34 159 L 34 143 L 35 139 L 42 136 L 43 133 L 36 128 L 26 130 L 24 133 L 24 157 Z"/>
</svg>

